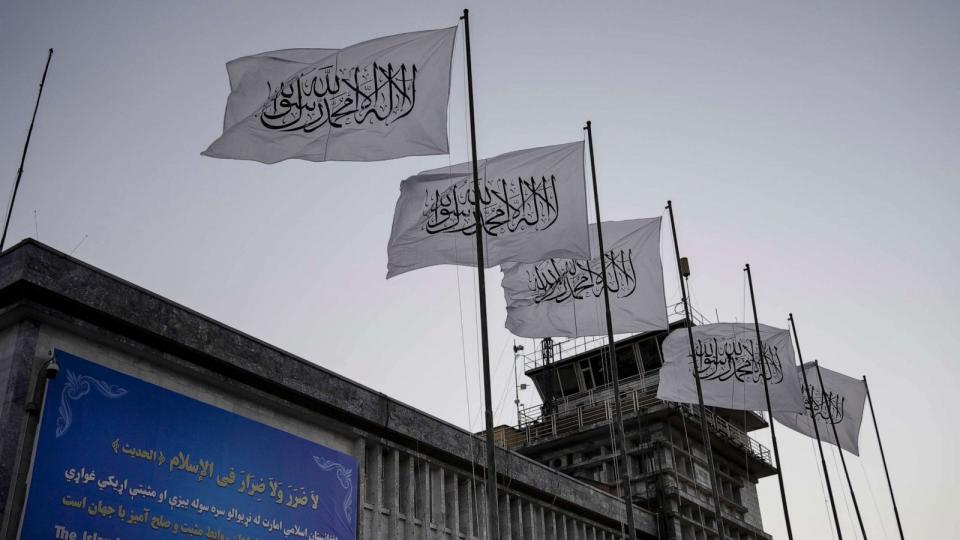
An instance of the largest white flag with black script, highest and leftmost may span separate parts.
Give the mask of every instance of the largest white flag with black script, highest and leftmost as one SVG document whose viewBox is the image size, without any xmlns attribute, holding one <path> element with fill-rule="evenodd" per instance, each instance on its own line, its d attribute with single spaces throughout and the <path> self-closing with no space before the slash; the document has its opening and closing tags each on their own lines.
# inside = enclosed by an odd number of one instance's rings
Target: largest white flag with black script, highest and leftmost
<svg viewBox="0 0 960 540">
<path fill-rule="evenodd" d="M 233 60 L 223 134 L 203 155 L 276 163 L 446 154 L 456 31 Z"/>
</svg>

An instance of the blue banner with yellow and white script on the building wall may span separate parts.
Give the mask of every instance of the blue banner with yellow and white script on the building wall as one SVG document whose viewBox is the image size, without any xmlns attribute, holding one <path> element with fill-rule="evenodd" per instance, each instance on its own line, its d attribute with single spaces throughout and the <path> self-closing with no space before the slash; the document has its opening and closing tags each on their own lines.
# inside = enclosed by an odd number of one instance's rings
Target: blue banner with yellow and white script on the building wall
<svg viewBox="0 0 960 540">
<path fill-rule="evenodd" d="M 356 539 L 353 457 L 55 355 L 21 538 Z"/>
</svg>

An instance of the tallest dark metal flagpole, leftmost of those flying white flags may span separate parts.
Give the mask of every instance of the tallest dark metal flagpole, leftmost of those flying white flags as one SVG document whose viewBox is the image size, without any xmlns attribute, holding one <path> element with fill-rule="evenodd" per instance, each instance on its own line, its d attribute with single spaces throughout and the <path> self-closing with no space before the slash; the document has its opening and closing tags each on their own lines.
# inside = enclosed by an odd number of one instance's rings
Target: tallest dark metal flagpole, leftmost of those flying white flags
<svg viewBox="0 0 960 540">
<path fill-rule="evenodd" d="M 477 288 L 480 304 L 480 349 L 483 352 L 483 401 L 487 421 L 487 538 L 500 538 L 497 508 L 497 461 L 493 443 L 493 397 L 490 392 L 490 346 L 487 343 L 487 287 L 483 263 L 483 213 L 480 211 L 480 175 L 477 171 L 477 129 L 473 113 L 473 63 L 470 59 L 470 11 L 463 10 L 463 36 L 467 55 L 467 96 L 470 104 L 470 149 L 473 152 L 473 216 L 477 233 Z"/>
</svg>

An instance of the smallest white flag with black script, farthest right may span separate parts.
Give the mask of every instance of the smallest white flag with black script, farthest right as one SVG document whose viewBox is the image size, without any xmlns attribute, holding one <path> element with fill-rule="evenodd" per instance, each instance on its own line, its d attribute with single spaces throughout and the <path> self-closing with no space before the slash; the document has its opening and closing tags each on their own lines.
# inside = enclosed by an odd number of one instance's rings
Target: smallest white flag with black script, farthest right
<svg viewBox="0 0 960 540">
<path fill-rule="evenodd" d="M 848 377 L 836 371 L 820 367 L 823 374 L 823 387 L 817 378 L 817 367 L 813 363 L 803 365 L 807 372 L 807 388 L 810 391 L 808 398 L 804 392 L 804 403 L 807 410 L 804 413 L 774 413 L 773 418 L 788 428 L 814 438 L 813 420 L 810 411 L 817 419 L 820 430 L 820 440 L 839 446 L 853 455 L 860 455 L 860 424 L 863 422 L 863 406 L 867 399 L 867 387 L 863 381 Z M 797 368 L 797 378 L 803 384 L 803 375 Z M 810 399 L 812 398 L 812 400 Z M 833 425 L 837 428 L 834 437 Z M 837 440 L 839 438 L 839 441 Z"/>
</svg>

